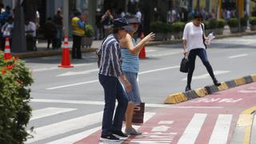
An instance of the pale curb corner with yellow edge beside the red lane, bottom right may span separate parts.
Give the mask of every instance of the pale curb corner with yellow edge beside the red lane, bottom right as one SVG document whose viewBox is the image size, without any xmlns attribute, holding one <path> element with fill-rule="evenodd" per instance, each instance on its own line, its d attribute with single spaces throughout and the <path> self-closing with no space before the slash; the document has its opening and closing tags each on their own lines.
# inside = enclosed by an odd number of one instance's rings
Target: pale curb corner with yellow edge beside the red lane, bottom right
<svg viewBox="0 0 256 144">
<path fill-rule="evenodd" d="M 239 115 L 237 125 L 232 134 L 230 143 L 232 144 L 250 144 L 256 143 L 256 117 L 254 112 L 256 106 L 244 110 Z"/>
</svg>

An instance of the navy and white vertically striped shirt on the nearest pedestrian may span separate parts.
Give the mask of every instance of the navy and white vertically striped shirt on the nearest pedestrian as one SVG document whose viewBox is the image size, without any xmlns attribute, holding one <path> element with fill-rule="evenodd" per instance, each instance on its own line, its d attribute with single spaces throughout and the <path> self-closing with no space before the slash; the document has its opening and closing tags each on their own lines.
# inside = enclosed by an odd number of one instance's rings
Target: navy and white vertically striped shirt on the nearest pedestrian
<svg viewBox="0 0 256 144">
<path fill-rule="evenodd" d="M 118 77 L 122 74 L 122 56 L 118 38 L 114 34 L 110 34 L 98 49 L 101 54 L 99 64 L 99 74 Z"/>
</svg>

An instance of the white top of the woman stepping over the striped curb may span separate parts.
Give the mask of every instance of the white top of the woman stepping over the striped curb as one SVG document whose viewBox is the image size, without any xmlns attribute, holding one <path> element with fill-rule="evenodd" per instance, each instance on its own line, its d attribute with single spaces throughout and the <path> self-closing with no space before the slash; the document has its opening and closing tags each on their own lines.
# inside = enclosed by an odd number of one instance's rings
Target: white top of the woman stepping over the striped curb
<svg viewBox="0 0 256 144">
<path fill-rule="evenodd" d="M 193 22 L 186 24 L 182 39 L 186 39 L 186 49 L 188 51 L 198 48 L 206 49 L 202 40 L 202 26 L 194 26 Z"/>
</svg>

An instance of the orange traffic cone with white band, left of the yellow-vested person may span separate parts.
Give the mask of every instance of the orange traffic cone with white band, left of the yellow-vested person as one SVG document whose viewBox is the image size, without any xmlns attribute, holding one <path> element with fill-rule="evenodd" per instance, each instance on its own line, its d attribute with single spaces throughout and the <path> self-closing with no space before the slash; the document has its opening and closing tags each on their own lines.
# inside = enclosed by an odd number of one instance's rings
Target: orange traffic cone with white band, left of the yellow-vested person
<svg viewBox="0 0 256 144">
<path fill-rule="evenodd" d="M 67 35 L 64 36 L 64 47 L 62 48 L 62 64 L 58 67 L 74 67 L 70 65 L 70 50 Z"/>
</svg>

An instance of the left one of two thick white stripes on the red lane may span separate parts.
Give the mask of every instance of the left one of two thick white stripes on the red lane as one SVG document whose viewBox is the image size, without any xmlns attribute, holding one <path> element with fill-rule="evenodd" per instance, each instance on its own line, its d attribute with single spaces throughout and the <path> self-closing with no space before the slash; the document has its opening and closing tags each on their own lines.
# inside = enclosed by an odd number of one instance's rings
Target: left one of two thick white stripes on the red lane
<svg viewBox="0 0 256 144">
<path fill-rule="evenodd" d="M 186 126 L 186 130 L 182 134 L 182 137 L 178 140 L 178 144 L 194 144 L 198 134 L 201 130 L 203 123 L 205 122 L 207 114 L 194 114 L 194 117 Z"/>
</svg>

